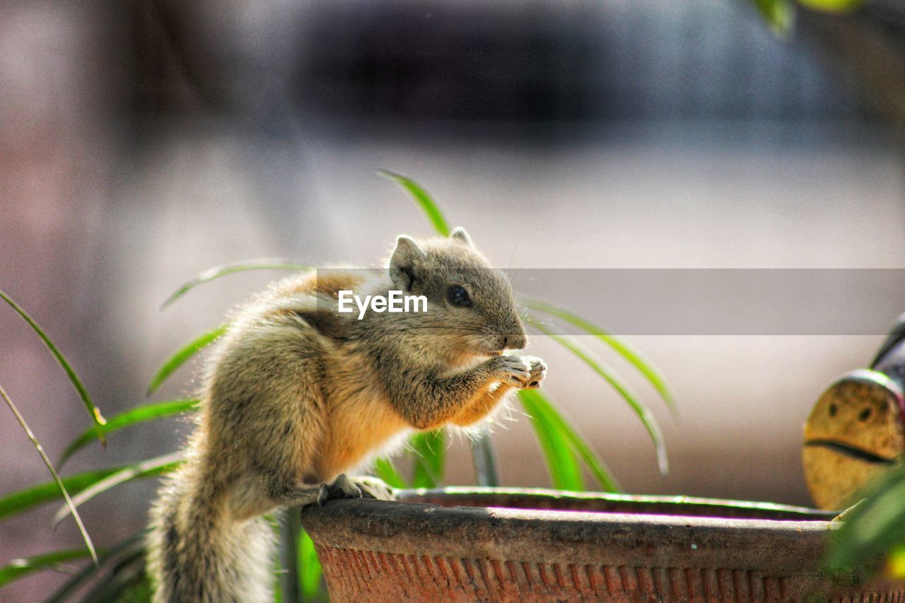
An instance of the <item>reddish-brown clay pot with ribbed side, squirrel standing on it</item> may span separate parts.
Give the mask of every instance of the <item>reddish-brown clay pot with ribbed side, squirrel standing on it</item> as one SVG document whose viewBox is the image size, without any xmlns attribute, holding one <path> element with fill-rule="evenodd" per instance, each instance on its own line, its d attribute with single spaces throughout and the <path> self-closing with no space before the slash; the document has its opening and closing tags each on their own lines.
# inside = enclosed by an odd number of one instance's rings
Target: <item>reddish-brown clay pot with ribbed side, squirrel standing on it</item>
<svg viewBox="0 0 905 603">
<path fill-rule="evenodd" d="M 816 570 L 833 513 L 767 503 L 510 488 L 310 506 L 332 601 L 905 601 Z"/>
</svg>

